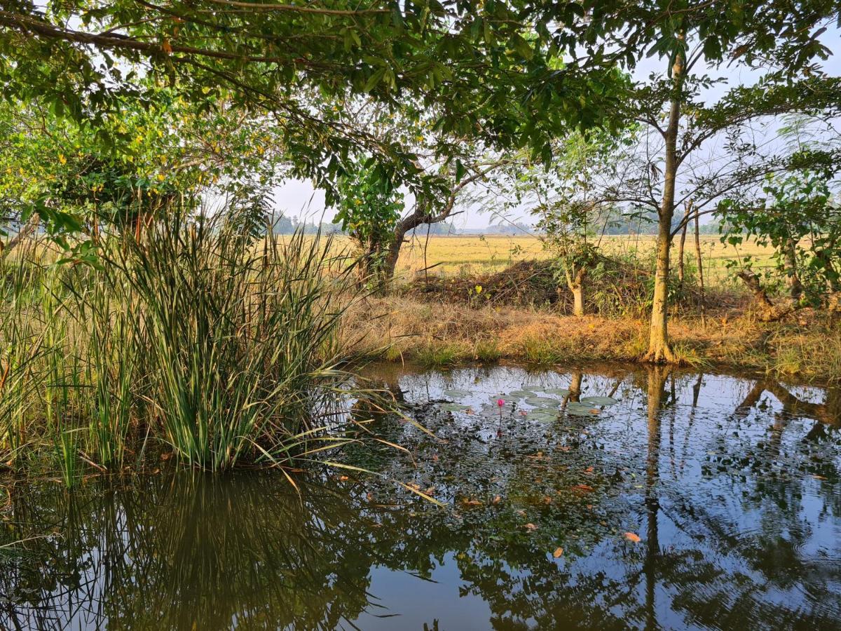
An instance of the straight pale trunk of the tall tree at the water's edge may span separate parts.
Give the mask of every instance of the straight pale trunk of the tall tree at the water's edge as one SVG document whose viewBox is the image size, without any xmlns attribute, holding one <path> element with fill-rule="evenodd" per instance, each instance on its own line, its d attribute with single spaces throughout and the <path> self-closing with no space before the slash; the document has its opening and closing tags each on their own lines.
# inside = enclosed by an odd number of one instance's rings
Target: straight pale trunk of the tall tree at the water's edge
<svg viewBox="0 0 841 631">
<path fill-rule="evenodd" d="M 683 79 L 683 56 L 674 62 L 675 94 L 669 107 L 669 125 L 664 132 L 666 162 L 664 168 L 663 200 L 658 212 L 657 268 L 654 272 L 654 296 L 651 305 L 651 326 L 648 330 L 648 362 L 674 362 L 669 342 L 669 248 L 672 244 L 674 216 L 674 180 L 678 171 L 677 141 L 680 125 L 680 91 Z"/>
</svg>

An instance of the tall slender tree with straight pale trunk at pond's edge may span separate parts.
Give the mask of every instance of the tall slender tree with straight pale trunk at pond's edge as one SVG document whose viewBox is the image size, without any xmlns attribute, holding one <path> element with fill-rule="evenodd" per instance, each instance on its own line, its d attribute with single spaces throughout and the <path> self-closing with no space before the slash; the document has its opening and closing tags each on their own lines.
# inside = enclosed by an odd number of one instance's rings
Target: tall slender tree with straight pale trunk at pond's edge
<svg viewBox="0 0 841 631">
<path fill-rule="evenodd" d="M 614 114 L 617 119 L 637 121 L 646 134 L 660 141 L 659 151 L 646 156 L 656 155 L 657 161 L 645 161 L 656 164 L 658 172 L 641 171 L 634 194 L 618 194 L 616 201 L 632 204 L 644 199 L 657 210 L 657 267 L 646 358 L 674 361 L 667 316 L 669 248 L 682 169 L 706 143 L 752 120 L 791 111 L 838 108 L 841 82 L 823 75 L 816 62 L 830 54 L 820 35 L 825 24 L 838 18 L 838 4 L 823 0 L 711 0 L 696 5 L 620 0 L 584 5 L 536 2 L 534 8 L 541 13 L 542 24 L 553 28 L 558 49 L 572 57 L 568 68 L 598 60 L 631 70 L 643 55 L 656 56 L 664 65 L 662 74 L 636 82 Z M 699 91 L 713 80 L 706 76 L 704 66 L 722 63 L 764 66 L 768 71 L 753 86 L 732 87 L 717 103 L 706 104 Z M 768 171 L 767 165 L 739 170 L 740 175 L 729 186 Z M 709 188 L 706 197 L 710 201 L 722 199 L 731 190 L 714 173 L 692 188 L 704 186 Z M 700 210 L 700 201 L 693 201 Z"/>
</svg>

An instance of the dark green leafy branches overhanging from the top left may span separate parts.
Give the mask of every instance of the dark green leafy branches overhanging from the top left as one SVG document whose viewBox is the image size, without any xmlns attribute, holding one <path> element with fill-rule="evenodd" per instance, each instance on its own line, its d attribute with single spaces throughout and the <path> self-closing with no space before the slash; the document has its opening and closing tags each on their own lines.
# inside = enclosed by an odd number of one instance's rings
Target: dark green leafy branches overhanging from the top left
<svg viewBox="0 0 841 631">
<path fill-rule="evenodd" d="M 125 103 L 153 100 L 151 83 L 167 84 L 193 111 L 226 103 L 271 119 L 290 173 L 315 180 L 329 204 L 349 156 L 360 154 L 437 199 L 440 178 L 412 151 L 340 114 L 360 96 L 390 111 L 415 98 L 436 107 L 442 135 L 479 135 L 548 159 L 559 127 L 605 118 L 614 74 L 547 66 L 547 32 L 532 37 L 523 9 L 463 0 L 24 2 L 0 10 L 0 86 L 7 98 L 41 98 L 57 116 L 102 130 Z"/>
</svg>

